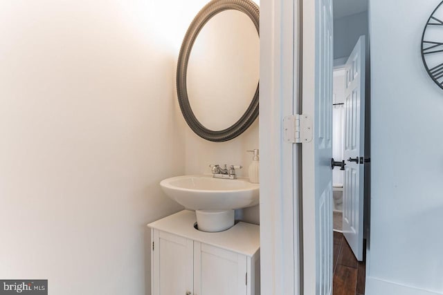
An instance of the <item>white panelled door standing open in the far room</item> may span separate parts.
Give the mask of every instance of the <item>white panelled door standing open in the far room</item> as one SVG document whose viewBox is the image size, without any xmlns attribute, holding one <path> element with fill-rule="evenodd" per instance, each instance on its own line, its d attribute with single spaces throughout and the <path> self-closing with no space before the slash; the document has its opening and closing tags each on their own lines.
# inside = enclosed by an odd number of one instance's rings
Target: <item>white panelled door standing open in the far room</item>
<svg viewBox="0 0 443 295">
<path fill-rule="evenodd" d="M 357 260 L 363 260 L 363 184 L 365 155 L 365 36 L 346 62 L 345 181 L 343 234 Z"/>
</svg>

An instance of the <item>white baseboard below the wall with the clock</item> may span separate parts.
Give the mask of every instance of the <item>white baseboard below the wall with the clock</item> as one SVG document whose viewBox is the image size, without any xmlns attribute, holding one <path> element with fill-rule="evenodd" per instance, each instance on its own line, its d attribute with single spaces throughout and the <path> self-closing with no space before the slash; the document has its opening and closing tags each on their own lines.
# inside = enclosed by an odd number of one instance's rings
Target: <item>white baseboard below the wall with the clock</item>
<svg viewBox="0 0 443 295">
<path fill-rule="evenodd" d="M 417 289 L 406 285 L 399 285 L 397 283 L 380 280 L 379 278 L 366 278 L 366 295 L 442 295 L 443 293 L 435 293 L 424 289 Z"/>
</svg>

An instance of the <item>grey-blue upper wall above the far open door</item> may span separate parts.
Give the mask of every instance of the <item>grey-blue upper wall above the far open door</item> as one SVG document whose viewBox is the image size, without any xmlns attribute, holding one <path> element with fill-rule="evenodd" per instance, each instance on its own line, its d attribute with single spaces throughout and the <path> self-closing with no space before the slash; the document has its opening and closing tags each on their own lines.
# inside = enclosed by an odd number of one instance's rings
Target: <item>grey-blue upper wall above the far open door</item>
<svg viewBox="0 0 443 295">
<path fill-rule="evenodd" d="M 349 57 L 361 35 L 368 40 L 368 12 L 334 19 L 334 59 Z"/>
</svg>

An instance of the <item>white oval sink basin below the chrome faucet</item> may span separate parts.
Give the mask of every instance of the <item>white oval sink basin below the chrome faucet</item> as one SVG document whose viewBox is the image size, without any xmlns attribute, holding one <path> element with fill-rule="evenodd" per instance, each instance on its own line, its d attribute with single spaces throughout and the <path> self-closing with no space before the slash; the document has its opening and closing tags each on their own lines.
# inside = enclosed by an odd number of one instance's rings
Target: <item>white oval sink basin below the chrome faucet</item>
<svg viewBox="0 0 443 295">
<path fill-rule="evenodd" d="M 162 180 L 160 186 L 186 209 L 240 209 L 259 202 L 260 185 L 247 178 L 226 180 L 212 175 L 186 175 Z"/>
</svg>

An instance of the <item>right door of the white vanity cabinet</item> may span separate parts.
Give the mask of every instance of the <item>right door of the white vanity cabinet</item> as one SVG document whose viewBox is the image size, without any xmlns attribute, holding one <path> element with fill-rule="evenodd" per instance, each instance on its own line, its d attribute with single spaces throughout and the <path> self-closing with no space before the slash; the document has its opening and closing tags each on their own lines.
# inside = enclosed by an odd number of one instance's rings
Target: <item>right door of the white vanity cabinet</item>
<svg viewBox="0 0 443 295">
<path fill-rule="evenodd" d="M 194 242 L 194 295 L 247 294 L 247 258 Z"/>
</svg>

